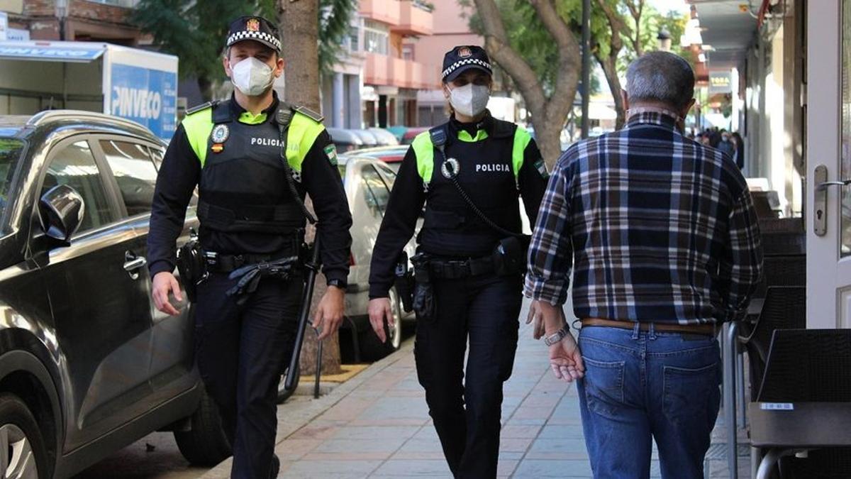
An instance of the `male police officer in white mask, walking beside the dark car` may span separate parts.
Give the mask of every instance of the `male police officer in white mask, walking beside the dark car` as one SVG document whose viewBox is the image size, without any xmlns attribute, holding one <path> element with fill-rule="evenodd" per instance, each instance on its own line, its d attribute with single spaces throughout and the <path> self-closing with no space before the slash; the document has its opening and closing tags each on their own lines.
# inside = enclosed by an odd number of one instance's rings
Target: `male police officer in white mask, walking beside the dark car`
<svg viewBox="0 0 851 479">
<path fill-rule="evenodd" d="M 157 177 L 148 251 L 157 309 L 176 315 L 168 301 L 169 293 L 181 301 L 175 241 L 197 185 L 208 263 L 208 278 L 197 286 L 198 369 L 233 447 L 231 476 L 265 479 L 277 475 L 277 383 L 300 307 L 302 281 L 290 262 L 305 227 L 300 200 L 306 193 L 314 200 L 328 280 L 313 323 L 320 338 L 342 320 L 351 214 L 322 118 L 283 104 L 271 89 L 283 72 L 277 27 L 239 18 L 226 47 L 222 62 L 236 89 L 230 101 L 187 111 L 175 132 Z M 240 286 L 231 273 L 252 264 L 263 265 L 254 272 L 261 279 Z"/>
</svg>

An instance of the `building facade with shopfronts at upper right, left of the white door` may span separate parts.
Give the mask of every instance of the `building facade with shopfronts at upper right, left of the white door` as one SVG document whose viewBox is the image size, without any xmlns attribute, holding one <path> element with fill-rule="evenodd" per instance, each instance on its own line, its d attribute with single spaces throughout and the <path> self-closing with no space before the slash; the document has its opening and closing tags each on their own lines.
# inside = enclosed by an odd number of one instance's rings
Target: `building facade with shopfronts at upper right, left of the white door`
<svg viewBox="0 0 851 479">
<path fill-rule="evenodd" d="M 752 10 L 695 3 L 693 10 L 710 77 L 729 78 L 728 129 L 745 139 L 745 176 L 761 178 L 785 216 L 801 216 L 804 204 L 806 8 L 785 0 Z"/>
</svg>

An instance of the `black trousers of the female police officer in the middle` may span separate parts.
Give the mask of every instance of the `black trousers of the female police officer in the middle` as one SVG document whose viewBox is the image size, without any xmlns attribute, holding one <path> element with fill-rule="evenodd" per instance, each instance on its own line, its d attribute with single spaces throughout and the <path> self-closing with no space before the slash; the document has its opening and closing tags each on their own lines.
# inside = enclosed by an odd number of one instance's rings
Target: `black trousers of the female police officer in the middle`
<svg viewBox="0 0 851 479">
<path fill-rule="evenodd" d="M 519 275 L 434 280 L 437 314 L 417 320 L 417 376 L 455 477 L 496 476 L 502 384 L 514 366 L 521 287 Z"/>
</svg>

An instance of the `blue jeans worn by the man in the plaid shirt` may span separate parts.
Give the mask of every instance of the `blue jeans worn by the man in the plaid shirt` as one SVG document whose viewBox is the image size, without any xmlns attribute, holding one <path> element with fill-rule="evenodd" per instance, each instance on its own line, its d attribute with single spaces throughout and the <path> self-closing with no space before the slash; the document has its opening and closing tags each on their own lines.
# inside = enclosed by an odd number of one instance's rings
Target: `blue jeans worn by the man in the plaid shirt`
<svg viewBox="0 0 851 479">
<path fill-rule="evenodd" d="M 655 439 L 662 477 L 703 477 L 721 401 L 716 338 L 584 327 L 579 381 L 595 477 L 648 477 Z"/>
</svg>

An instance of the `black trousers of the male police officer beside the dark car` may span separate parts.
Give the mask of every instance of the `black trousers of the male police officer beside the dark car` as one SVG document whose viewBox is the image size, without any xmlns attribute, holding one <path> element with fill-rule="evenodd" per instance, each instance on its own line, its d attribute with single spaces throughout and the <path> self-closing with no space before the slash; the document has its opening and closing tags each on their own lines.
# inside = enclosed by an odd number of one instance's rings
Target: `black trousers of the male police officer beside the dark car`
<svg viewBox="0 0 851 479">
<path fill-rule="evenodd" d="M 236 284 L 211 273 L 198 286 L 196 358 L 233 446 L 231 477 L 266 479 L 277 429 L 277 384 L 292 355 L 303 281 L 264 278 L 237 305 Z"/>
</svg>

